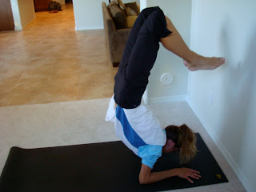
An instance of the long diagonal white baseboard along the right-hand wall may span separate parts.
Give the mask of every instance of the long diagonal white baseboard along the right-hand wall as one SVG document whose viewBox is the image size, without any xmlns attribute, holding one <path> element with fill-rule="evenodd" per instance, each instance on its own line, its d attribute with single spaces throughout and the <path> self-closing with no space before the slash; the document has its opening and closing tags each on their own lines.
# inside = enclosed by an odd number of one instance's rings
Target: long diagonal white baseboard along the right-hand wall
<svg viewBox="0 0 256 192">
<path fill-rule="evenodd" d="M 210 135 L 210 138 L 214 141 L 214 144 L 218 147 L 218 150 L 221 151 L 223 157 L 230 164 L 232 170 L 237 175 L 238 179 L 242 183 L 242 186 L 245 187 L 246 191 L 254 192 L 255 189 L 250 185 L 249 180 L 246 178 L 245 174 L 242 173 L 242 170 L 239 168 L 237 163 L 234 161 L 234 158 L 230 155 L 229 151 L 226 150 L 226 147 L 218 139 L 218 136 L 214 134 L 211 130 L 210 124 L 206 121 L 202 114 L 199 113 L 197 107 L 191 102 L 190 98 L 186 98 L 186 102 L 189 104 L 190 108 L 194 111 L 194 114 L 198 117 L 199 121 L 202 123 L 202 126 L 206 129 L 207 133 Z"/>
</svg>

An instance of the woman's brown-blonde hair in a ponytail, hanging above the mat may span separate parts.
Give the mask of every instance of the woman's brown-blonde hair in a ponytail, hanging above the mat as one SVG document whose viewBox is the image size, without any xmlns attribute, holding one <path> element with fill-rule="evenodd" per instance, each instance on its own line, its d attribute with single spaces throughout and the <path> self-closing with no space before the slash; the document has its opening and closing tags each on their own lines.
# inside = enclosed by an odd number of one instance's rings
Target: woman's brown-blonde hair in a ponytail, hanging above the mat
<svg viewBox="0 0 256 192">
<path fill-rule="evenodd" d="M 182 126 L 167 126 L 166 138 L 175 142 L 175 147 L 180 150 L 180 163 L 189 162 L 195 157 L 197 148 L 195 146 L 196 137 L 190 127 L 183 124 Z"/>
</svg>

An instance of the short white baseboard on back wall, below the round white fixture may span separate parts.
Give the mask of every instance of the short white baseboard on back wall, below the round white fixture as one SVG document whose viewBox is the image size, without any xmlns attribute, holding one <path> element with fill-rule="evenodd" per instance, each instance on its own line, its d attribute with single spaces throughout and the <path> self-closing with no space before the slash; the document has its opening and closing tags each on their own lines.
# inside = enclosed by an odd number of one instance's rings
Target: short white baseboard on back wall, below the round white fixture
<svg viewBox="0 0 256 192">
<path fill-rule="evenodd" d="M 186 102 L 186 95 L 175 95 L 170 97 L 162 97 L 162 98 L 147 98 L 143 97 L 143 101 L 146 104 L 156 103 L 156 102 Z"/>
</svg>

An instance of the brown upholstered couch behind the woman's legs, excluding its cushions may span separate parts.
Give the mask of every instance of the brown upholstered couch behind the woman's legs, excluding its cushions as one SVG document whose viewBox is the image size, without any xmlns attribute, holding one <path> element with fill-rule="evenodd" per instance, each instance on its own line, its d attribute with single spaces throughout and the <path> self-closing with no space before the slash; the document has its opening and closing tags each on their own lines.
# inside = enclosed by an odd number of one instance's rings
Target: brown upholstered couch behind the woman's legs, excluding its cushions
<svg viewBox="0 0 256 192">
<path fill-rule="evenodd" d="M 110 10 L 106 6 L 106 2 L 102 2 L 102 14 L 104 22 L 104 30 L 106 37 L 106 46 L 109 54 L 110 63 L 112 66 L 118 66 L 121 62 L 122 52 L 125 48 L 126 41 L 130 34 L 131 26 L 124 26 L 125 28 L 120 29 L 120 26 L 116 26 L 113 18 L 111 17 Z M 137 16 L 132 20 L 135 20 Z M 127 17 L 128 18 L 128 17 Z M 128 20 L 127 20 L 128 21 Z"/>
</svg>

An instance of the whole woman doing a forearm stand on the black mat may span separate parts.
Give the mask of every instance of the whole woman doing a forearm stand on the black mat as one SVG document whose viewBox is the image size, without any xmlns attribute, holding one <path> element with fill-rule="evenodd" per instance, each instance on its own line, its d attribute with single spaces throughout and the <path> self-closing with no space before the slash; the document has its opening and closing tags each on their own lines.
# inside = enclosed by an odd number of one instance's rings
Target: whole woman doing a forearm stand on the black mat
<svg viewBox="0 0 256 192">
<path fill-rule="evenodd" d="M 117 136 L 142 158 L 141 184 L 173 176 L 193 182 L 190 178 L 200 178 L 199 172 L 185 167 L 151 173 L 162 152 L 180 150 L 181 162 L 188 162 L 196 153 L 195 137 L 189 127 L 168 126 L 162 130 L 154 114 L 141 104 L 150 70 L 157 58 L 159 42 L 183 58 L 189 70 L 214 70 L 225 62 L 225 58 L 205 58 L 195 54 L 159 7 L 146 8 L 138 15 L 126 42 L 114 78 L 114 96 L 110 100 L 106 121 L 115 123 Z"/>
</svg>

